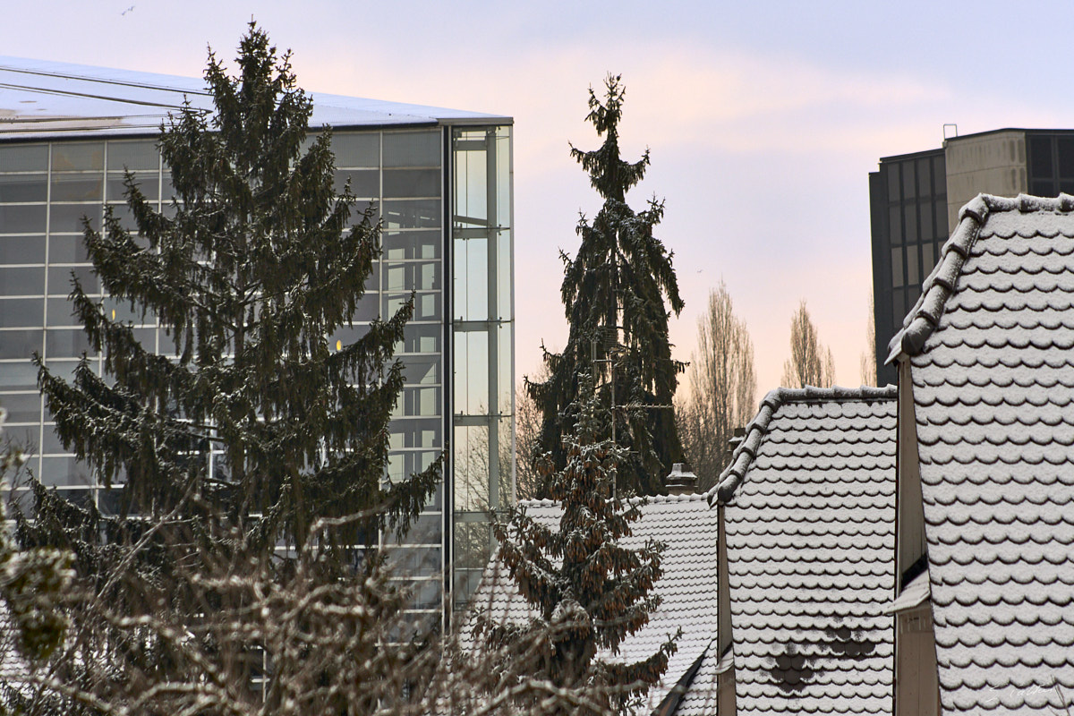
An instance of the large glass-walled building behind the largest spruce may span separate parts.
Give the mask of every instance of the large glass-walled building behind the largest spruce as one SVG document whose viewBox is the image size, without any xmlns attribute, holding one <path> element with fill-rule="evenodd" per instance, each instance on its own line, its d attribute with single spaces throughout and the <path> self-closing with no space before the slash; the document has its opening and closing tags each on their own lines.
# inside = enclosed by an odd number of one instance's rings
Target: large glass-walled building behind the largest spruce
<svg viewBox="0 0 1074 716">
<path fill-rule="evenodd" d="M 0 94 L 0 109 L 8 99 Z M 332 99 L 339 105 L 349 98 Z M 314 101 L 316 127 L 317 94 Z M 406 385 L 390 424 L 384 477 L 404 479 L 447 451 L 445 480 L 402 542 L 391 535 L 381 541 L 396 578 L 412 587 L 412 609 L 447 623 L 489 557 L 491 512 L 514 498 L 511 122 L 451 111 L 438 117 L 427 107 L 386 121 L 388 109 L 406 105 L 372 103 L 369 113 L 369 101 L 352 102 L 362 111 L 332 117 L 337 181 L 342 188 L 349 180 L 360 202 L 378 207 L 382 253 L 353 326 L 331 336 L 330 346 L 352 342 L 371 320 L 416 296 L 413 320 L 396 346 Z M 31 448 L 29 467 L 42 482 L 108 513 L 116 494 L 54 435 L 30 356 L 39 353 L 70 378 L 89 352 L 68 301 L 73 277 L 115 317 L 141 320 L 101 294 L 83 220 L 99 228 L 108 205 L 133 229 L 125 169 L 162 210 L 172 191 L 157 130 L 83 119 L 0 127 L 0 405 L 6 435 Z M 135 335 L 160 353 L 174 351 L 155 322 L 136 324 Z M 89 359 L 100 371 L 101 356 Z"/>
</svg>

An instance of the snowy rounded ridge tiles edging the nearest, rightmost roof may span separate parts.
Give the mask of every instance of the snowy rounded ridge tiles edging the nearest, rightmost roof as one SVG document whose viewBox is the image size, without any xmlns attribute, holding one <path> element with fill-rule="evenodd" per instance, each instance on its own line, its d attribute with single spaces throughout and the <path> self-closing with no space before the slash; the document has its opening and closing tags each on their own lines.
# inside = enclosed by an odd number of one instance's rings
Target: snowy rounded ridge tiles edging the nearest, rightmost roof
<svg viewBox="0 0 1074 716">
<path fill-rule="evenodd" d="M 1003 211 L 1074 211 L 1074 195 L 1059 194 L 1050 199 L 1018 194 L 1016 198 L 977 194 L 958 213 L 958 225 L 941 249 L 932 273 L 921 284 L 921 295 L 906 313 L 902 328 L 888 342 L 885 364 L 891 363 L 900 354 L 918 355 L 925 341 L 940 324 L 944 306 L 955 292 L 955 284 L 962 273 L 962 266 L 970 257 L 970 250 L 981 234 L 981 229 L 990 214 Z"/>
</svg>

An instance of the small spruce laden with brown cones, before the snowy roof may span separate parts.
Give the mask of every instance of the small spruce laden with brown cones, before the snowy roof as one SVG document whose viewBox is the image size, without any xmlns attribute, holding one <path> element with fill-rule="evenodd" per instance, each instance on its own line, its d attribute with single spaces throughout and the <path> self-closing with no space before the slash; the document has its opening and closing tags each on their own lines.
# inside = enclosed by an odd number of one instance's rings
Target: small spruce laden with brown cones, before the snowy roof
<svg viewBox="0 0 1074 716">
<path fill-rule="evenodd" d="M 581 378 L 584 386 L 589 376 Z M 498 559 L 533 617 L 505 625 L 479 614 L 476 633 L 492 647 L 518 645 L 516 658 L 529 659 L 527 677 L 572 697 L 564 713 L 625 713 L 659 681 L 676 651 L 678 634 L 639 661 L 616 659 L 624 639 L 648 624 L 661 603 L 653 587 L 664 545 L 625 543 L 641 517 L 641 502 L 613 495 L 626 451 L 608 437 L 607 408 L 583 388 L 567 413 L 567 464 L 549 482 L 549 495 L 562 508 L 558 527 L 538 522 L 524 506 L 495 527 Z"/>
</svg>

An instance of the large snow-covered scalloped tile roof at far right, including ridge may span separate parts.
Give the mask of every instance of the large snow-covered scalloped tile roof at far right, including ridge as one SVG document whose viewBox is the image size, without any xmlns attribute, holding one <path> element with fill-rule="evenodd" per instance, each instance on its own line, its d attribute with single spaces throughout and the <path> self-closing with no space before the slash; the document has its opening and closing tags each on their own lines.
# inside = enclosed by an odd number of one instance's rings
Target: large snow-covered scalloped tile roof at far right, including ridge
<svg viewBox="0 0 1074 716">
<path fill-rule="evenodd" d="M 1074 196 L 977 196 L 891 342 L 911 363 L 945 713 L 1074 698 L 1072 348 Z"/>
</svg>

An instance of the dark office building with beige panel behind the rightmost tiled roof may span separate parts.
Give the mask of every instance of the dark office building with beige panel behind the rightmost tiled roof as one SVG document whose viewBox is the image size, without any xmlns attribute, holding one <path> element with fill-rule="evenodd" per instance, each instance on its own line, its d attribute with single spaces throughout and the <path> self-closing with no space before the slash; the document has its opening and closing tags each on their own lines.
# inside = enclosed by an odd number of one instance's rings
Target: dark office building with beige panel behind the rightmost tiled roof
<svg viewBox="0 0 1074 716">
<path fill-rule="evenodd" d="M 955 136 L 939 149 L 884 157 L 869 173 L 876 377 L 887 342 L 932 272 L 958 211 L 978 193 L 1074 193 L 1074 130 L 1000 129 Z"/>
</svg>

